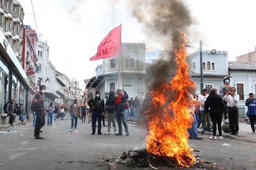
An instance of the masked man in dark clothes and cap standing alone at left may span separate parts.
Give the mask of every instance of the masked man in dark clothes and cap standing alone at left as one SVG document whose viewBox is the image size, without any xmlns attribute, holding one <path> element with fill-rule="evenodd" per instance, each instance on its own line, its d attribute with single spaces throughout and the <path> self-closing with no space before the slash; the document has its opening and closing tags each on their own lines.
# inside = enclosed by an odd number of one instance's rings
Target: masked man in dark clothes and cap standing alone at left
<svg viewBox="0 0 256 170">
<path fill-rule="evenodd" d="M 43 139 L 42 136 L 40 136 L 40 130 L 45 125 L 45 115 L 47 115 L 47 112 L 45 111 L 45 85 L 41 85 L 39 87 L 39 93 L 35 94 L 34 99 L 32 102 L 35 102 L 35 115 L 37 116 L 37 119 L 35 120 L 35 139 Z"/>
</svg>

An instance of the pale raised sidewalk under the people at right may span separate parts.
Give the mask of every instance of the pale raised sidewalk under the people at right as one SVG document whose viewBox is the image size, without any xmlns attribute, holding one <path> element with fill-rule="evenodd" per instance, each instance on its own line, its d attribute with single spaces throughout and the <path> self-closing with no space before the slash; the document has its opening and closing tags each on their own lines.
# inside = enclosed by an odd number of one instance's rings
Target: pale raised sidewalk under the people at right
<svg viewBox="0 0 256 170">
<path fill-rule="evenodd" d="M 223 124 L 223 123 L 222 123 Z M 204 132 L 203 134 L 201 133 L 201 128 L 198 128 L 198 133 L 199 135 L 208 135 L 211 136 L 213 135 L 212 132 Z M 218 134 L 218 132 L 217 132 Z M 222 135 L 226 138 L 233 138 L 236 140 L 244 140 L 244 141 L 250 141 L 250 142 L 255 142 L 256 143 L 256 135 L 252 134 L 252 128 L 250 127 L 250 124 L 247 124 L 245 122 L 239 122 L 239 132 L 238 135 L 229 135 L 229 133 L 225 133 L 222 130 Z"/>
</svg>

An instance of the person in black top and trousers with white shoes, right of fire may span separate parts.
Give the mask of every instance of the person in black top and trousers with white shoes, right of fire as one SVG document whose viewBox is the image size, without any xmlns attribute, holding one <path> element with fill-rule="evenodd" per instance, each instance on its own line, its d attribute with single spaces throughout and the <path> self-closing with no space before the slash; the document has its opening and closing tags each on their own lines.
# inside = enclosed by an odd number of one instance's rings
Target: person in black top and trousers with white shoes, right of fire
<svg viewBox="0 0 256 170">
<path fill-rule="evenodd" d="M 213 122 L 213 136 L 210 136 L 210 140 L 216 140 L 216 131 L 219 131 L 219 140 L 223 140 L 222 136 L 222 113 L 226 109 L 222 97 L 217 94 L 216 88 L 211 88 L 211 92 L 204 102 L 204 109 L 210 113 L 211 121 Z"/>
</svg>

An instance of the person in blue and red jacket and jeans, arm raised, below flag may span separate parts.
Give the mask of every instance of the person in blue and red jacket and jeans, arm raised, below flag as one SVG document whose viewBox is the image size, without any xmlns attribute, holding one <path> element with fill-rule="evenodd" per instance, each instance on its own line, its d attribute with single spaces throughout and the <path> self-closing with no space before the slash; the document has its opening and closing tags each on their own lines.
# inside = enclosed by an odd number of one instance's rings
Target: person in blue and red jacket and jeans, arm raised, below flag
<svg viewBox="0 0 256 170">
<path fill-rule="evenodd" d="M 124 92 L 124 94 L 122 93 Z M 122 135 L 122 123 L 124 125 L 124 130 L 126 131 L 126 136 L 129 136 L 129 130 L 128 125 L 126 123 L 126 114 L 124 113 L 124 110 L 126 110 L 126 102 L 129 98 L 128 94 L 124 89 L 117 89 L 116 91 L 116 99 L 114 101 L 115 103 L 115 109 L 116 109 L 116 120 L 118 124 L 118 133 L 116 135 Z"/>
</svg>

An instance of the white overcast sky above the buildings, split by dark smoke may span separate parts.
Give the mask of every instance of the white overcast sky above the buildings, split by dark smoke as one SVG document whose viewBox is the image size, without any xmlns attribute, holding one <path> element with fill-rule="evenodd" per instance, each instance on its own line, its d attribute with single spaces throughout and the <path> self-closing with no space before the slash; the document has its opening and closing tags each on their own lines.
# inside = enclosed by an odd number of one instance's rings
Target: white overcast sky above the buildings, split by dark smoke
<svg viewBox="0 0 256 170">
<path fill-rule="evenodd" d="M 128 0 L 32 0 L 35 19 L 31 0 L 19 2 L 25 12 L 24 24 L 31 25 L 42 34 L 41 40 L 47 41 L 49 60 L 58 71 L 70 79 L 77 79 L 82 88 L 83 80 L 95 76 L 96 66 L 103 62 L 89 61 L 89 58 L 96 53 L 99 42 L 117 25 L 122 24 L 122 42 L 145 42 L 147 53 L 162 46 L 144 34 L 145 25 L 132 16 Z M 189 45 L 199 47 L 199 40 L 202 40 L 203 50 L 227 51 L 229 61 L 254 51 L 256 1 L 183 2 L 193 19 L 188 29 L 191 32 L 186 35 Z M 150 15 L 144 6 L 140 9 Z"/>
</svg>

